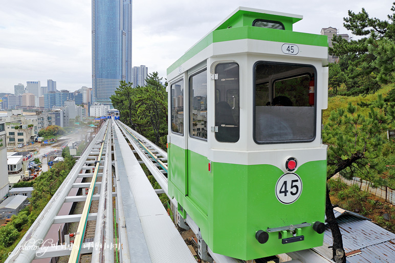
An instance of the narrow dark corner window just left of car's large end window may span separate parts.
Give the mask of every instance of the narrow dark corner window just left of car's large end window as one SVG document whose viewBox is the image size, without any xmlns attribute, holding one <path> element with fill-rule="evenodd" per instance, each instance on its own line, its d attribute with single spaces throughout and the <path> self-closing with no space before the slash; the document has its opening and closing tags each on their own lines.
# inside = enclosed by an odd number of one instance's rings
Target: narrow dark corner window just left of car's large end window
<svg viewBox="0 0 395 263">
<path fill-rule="evenodd" d="M 215 66 L 215 139 L 236 142 L 240 137 L 239 117 L 239 67 L 237 63 L 221 63 Z"/>
</svg>

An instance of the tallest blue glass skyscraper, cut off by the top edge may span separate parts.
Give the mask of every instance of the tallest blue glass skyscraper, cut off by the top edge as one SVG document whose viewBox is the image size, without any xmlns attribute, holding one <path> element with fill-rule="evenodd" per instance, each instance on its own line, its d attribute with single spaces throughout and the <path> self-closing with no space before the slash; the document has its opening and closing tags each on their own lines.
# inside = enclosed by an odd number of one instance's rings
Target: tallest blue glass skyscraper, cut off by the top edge
<svg viewBox="0 0 395 263">
<path fill-rule="evenodd" d="M 131 81 L 131 0 L 92 1 L 92 88 L 109 104 L 119 81 Z"/>
</svg>

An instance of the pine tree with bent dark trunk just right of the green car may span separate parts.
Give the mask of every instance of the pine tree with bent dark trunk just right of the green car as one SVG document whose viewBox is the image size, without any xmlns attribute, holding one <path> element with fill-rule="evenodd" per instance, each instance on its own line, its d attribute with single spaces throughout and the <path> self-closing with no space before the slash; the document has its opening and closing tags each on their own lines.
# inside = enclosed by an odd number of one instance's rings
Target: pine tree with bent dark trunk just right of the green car
<svg viewBox="0 0 395 263">
<path fill-rule="evenodd" d="M 331 112 L 322 131 L 323 141 L 328 145 L 327 179 L 340 173 L 346 178 L 358 176 L 380 184 L 378 175 L 383 172 L 383 167 L 378 165 L 377 158 L 385 142 L 384 131 L 393 121 L 393 115 L 386 116 L 384 110 L 385 103 L 379 95 L 370 106 L 367 117 L 351 103 L 346 109 L 339 108 Z M 346 262 L 329 192 L 327 188 L 325 214 L 333 235 L 333 257 L 336 262 Z"/>
</svg>

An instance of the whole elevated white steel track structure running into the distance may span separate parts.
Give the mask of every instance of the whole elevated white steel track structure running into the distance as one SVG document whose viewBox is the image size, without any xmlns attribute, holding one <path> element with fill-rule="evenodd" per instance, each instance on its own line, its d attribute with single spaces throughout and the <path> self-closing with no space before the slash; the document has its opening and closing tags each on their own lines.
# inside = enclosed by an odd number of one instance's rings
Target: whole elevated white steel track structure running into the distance
<svg viewBox="0 0 395 263">
<path fill-rule="evenodd" d="M 153 189 L 142 164 L 161 189 Z M 75 188 L 77 195 L 69 196 Z M 158 194 L 168 195 L 167 153 L 122 122 L 107 119 L 5 262 L 62 256 L 68 256 L 69 263 L 82 262 L 83 256 L 84 262 L 196 262 Z M 59 216 L 67 202 L 83 207 L 82 212 Z M 213 253 L 199 226 L 189 216 L 180 216 L 177 200 L 170 202 L 177 224 L 195 233 L 202 259 L 245 262 Z M 78 223 L 75 232 L 65 229 L 57 241 L 46 242 L 53 224 L 73 222 Z M 330 262 L 311 250 L 290 255 L 292 262 Z"/>
</svg>

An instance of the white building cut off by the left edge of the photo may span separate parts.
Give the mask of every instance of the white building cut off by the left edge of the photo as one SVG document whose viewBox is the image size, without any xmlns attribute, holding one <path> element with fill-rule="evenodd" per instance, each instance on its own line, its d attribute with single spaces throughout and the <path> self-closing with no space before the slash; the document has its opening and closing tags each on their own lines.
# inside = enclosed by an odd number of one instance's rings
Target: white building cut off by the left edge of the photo
<svg viewBox="0 0 395 263">
<path fill-rule="evenodd" d="M 8 194 L 6 121 L 0 119 L 0 198 Z"/>
</svg>

